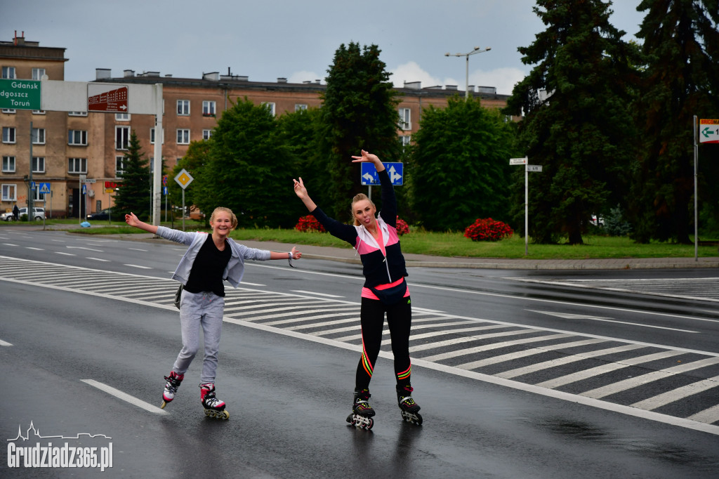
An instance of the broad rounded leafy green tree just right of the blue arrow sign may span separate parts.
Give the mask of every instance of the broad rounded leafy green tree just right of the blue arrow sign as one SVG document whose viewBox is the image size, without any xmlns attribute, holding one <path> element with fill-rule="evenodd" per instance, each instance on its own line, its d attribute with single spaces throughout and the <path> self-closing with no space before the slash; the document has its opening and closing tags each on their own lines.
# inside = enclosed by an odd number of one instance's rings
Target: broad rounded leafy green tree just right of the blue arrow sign
<svg viewBox="0 0 719 479">
<path fill-rule="evenodd" d="M 477 218 L 509 221 L 513 128 L 480 101 L 450 99 L 423 111 L 407 166 L 416 219 L 427 229 L 462 230 Z"/>
</svg>

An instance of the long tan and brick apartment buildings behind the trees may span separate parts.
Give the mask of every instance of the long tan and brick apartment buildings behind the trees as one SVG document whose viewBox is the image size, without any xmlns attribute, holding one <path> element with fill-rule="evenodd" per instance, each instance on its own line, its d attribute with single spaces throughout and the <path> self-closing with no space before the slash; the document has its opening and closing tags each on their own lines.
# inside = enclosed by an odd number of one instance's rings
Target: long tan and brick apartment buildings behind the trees
<svg viewBox="0 0 719 479">
<path fill-rule="evenodd" d="M 0 42 L 0 64 L 3 78 L 64 79 L 64 48 L 40 47 L 16 37 Z M 6 76 L 7 75 L 7 76 Z M 12 75 L 12 76 L 11 76 Z M 216 122 L 232 101 L 247 98 L 255 104 L 266 104 L 273 114 L 285 114 L 319 107 L 326 88 L 319 80 L 288 83 L 249 81 L 229 70 L 203 73 L 200 78 L 160 76 L 160 72 L 124 70 L 112 76 L 111 70 L 96 69 L 96 82 L 162 84 L 162 132 L 155 132 L 155 116 L 147 114 L 99 113 L 87 111 L 3 110 L 0 123 L 3 158 L 0 184 L 0 210 L 9 211 L 17 202 L 27 204 L 28 194 L 45 201 L 48 216 L 78 216 L 112 206 L 114 187 L 120 183 L 131 132 L 137 134 L 142 152 L 155 168 L 155 141 L 162 141 L 165 165 L 173 168 L 196 140 L 211 137 Z M 456 86 L 422 88 L 419 82 L 405 83 L 399 94 L 398 134 L 403 144 L 419 129 L 423 109 L 443 107 L 457 94 Z M 495 88 L 471 89 L 487 108 L 505 106 L 508 96 L 498 95 Z M 50 183 L 50 195 L 30 190 L 25 176 L 30 168 L 30 122 L 32 122 L 32 180 Z M 81 183 L 81 179 L 86 178 Z M 85 183 L 89 181 L 90 183 Z M 40 206 L 36 204 L 35 206 Z M 51 211 L 51 212 L 50 212 Z"/>
</svg>

